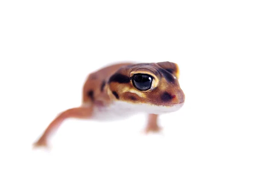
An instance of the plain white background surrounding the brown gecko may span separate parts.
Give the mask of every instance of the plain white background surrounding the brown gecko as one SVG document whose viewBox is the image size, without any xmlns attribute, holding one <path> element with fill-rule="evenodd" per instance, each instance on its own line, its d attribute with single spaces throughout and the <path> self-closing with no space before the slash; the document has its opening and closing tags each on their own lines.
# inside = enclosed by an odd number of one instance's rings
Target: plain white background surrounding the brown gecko
<svg viewBox="0 0 256 170">
<path fill-rule="evenodd" d="M 247 0 L 2 0 L 1 170 L 255 170 L 256 6 Z M 176 62 L 186 102 L 146 116 L 70 119 L 52 150 L 32 143 L 113 62 Z"/>
</svg>

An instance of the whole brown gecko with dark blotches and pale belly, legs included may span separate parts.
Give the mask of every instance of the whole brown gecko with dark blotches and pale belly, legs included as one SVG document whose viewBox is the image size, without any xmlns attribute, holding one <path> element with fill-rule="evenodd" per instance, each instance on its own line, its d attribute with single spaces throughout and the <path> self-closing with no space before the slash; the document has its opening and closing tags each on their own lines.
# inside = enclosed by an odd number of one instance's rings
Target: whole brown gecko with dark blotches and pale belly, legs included
<svg viewBox="0 0 256 170">
<path fill-rule="evenodd" d="M 159 132 L 159 116 L 179 110 L 185 102 L 179 75 L 178 65 L 169 61 L 100 68 L 86 77 L 81 105 L 59 113 L 33 146 L 47 147 L 49 136 L 69 118 L 108 121 L 142 112 L 148 115 L 145 133 Z"/>
</svg>

